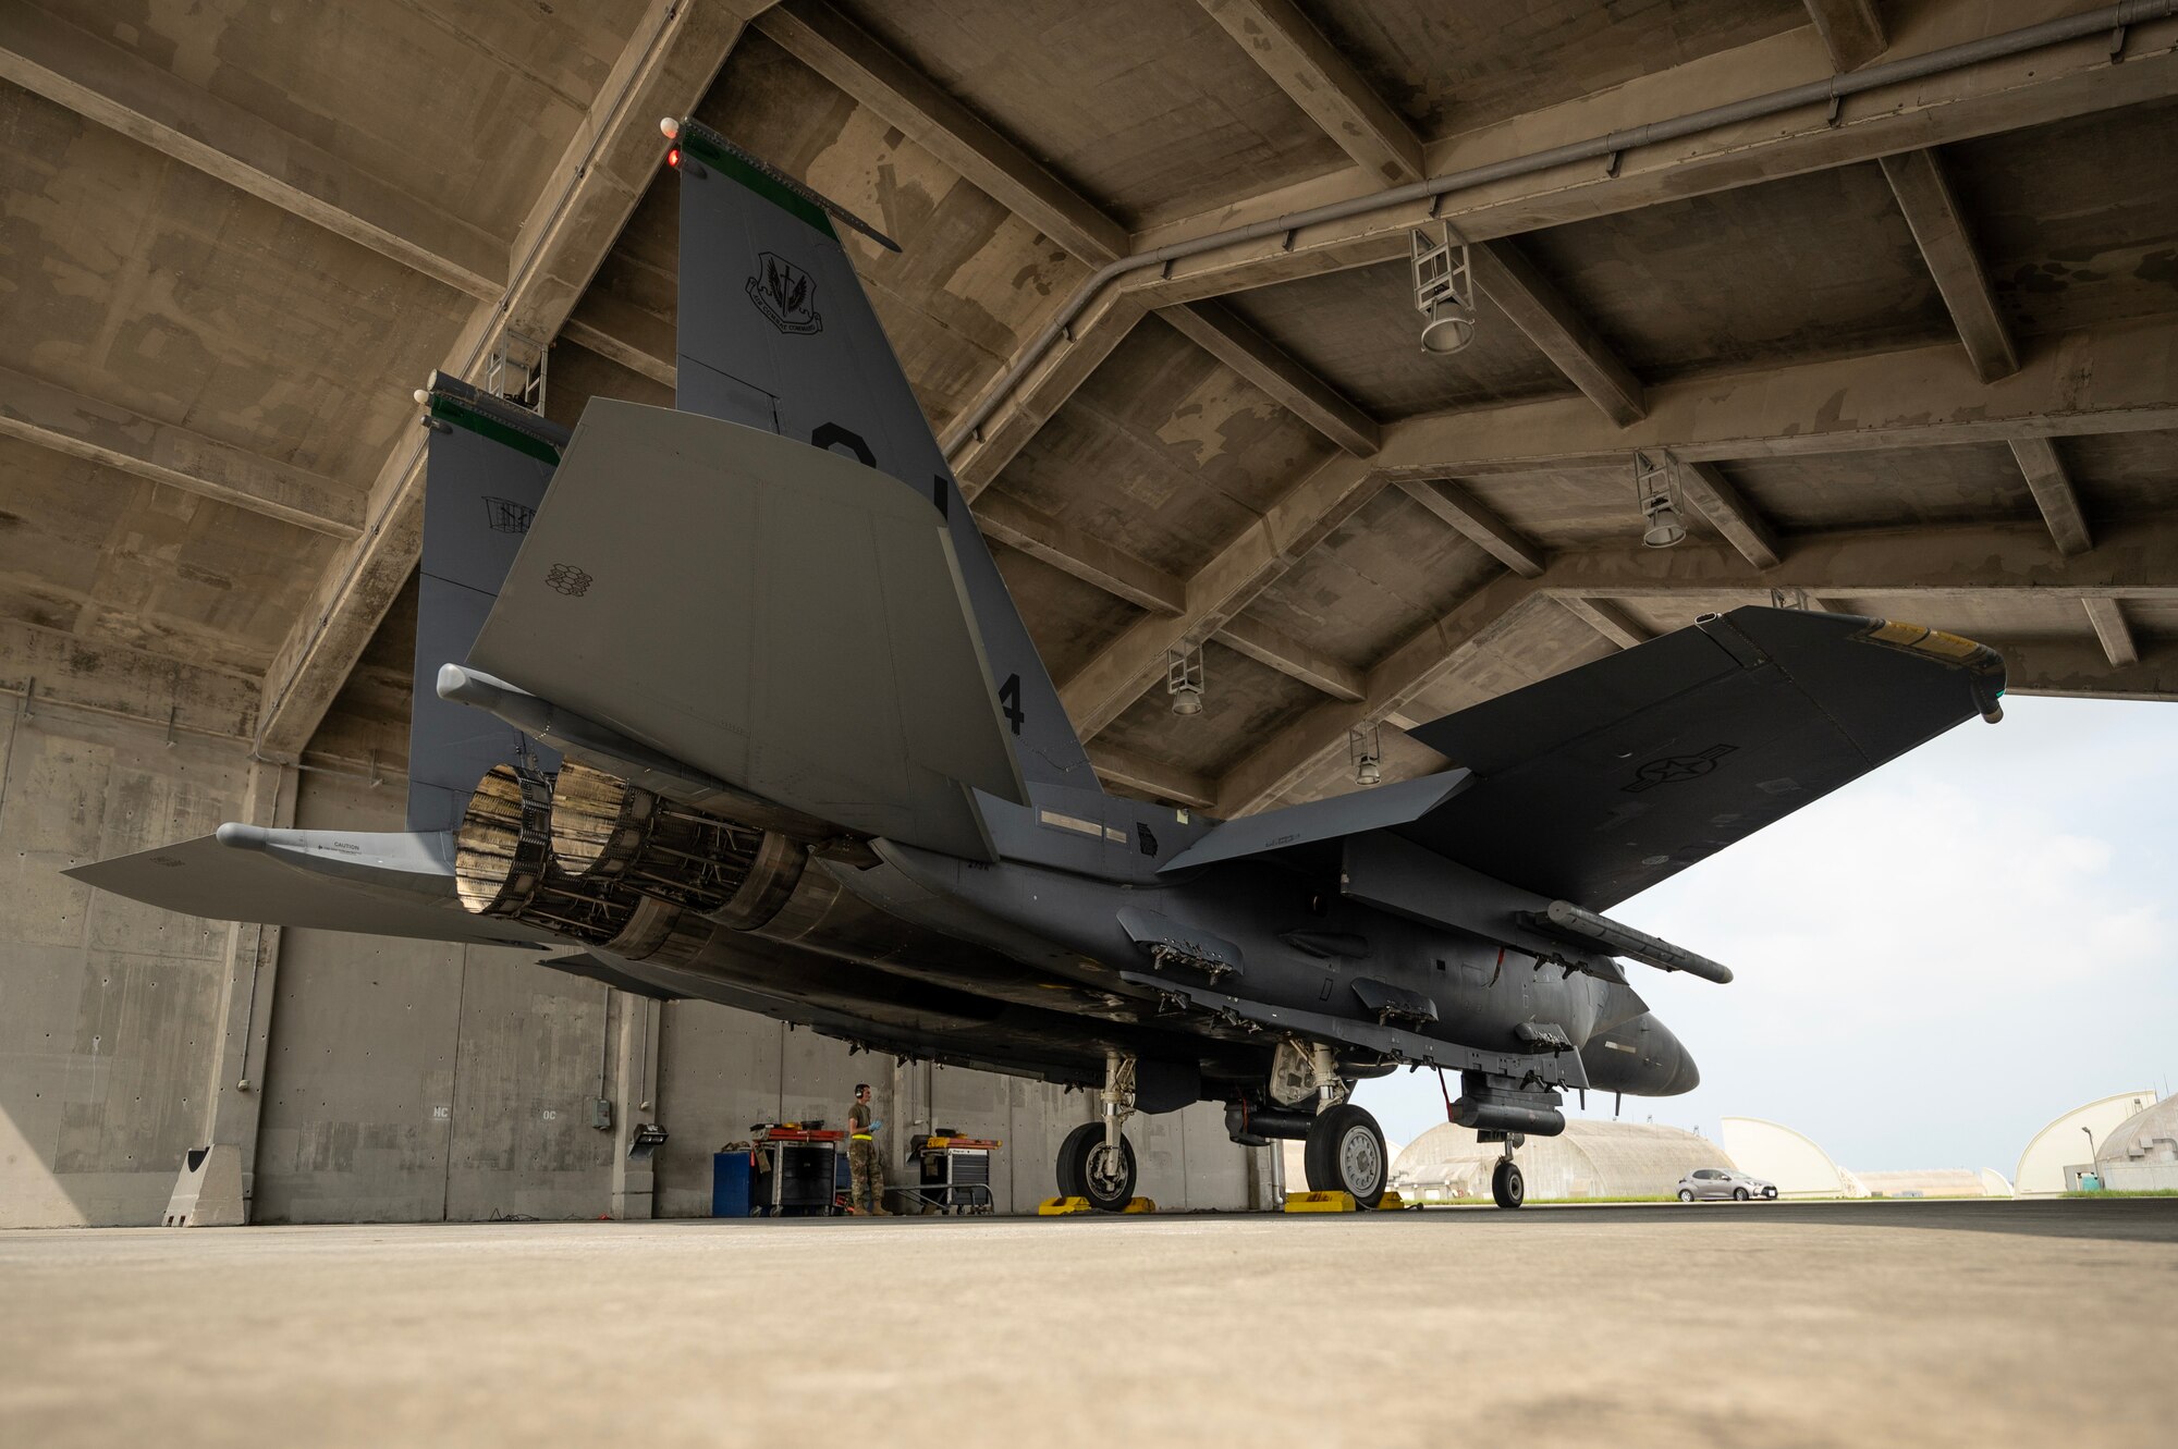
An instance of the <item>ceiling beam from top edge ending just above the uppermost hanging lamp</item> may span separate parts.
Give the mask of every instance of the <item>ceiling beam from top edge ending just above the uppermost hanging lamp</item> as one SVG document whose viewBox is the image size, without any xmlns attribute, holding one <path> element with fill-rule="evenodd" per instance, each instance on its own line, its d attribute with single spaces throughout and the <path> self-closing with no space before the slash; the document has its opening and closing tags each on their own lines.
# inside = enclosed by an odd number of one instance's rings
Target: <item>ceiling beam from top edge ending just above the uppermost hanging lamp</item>
<svg viewBox="0 0 2178 1449">
<path fill-rule="evenodd" d="M 1200 0 L 1263 74 L 1376 185 L 1422 178 L 1422 141 L 1294 0 Z"/>
</svg>

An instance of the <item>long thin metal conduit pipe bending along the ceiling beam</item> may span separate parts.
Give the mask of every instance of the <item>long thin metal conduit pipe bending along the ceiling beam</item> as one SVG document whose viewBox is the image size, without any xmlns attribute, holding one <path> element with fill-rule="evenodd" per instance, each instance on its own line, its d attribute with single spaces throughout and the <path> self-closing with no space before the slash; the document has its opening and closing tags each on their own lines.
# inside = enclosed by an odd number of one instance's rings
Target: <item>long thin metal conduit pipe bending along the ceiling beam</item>
<svg viewBox="0 0 2178 1449">
<path fill-rule="evenodd" d="M 1082 313 L 1102 287 L 1126 276 L 1128 272 L 1141 272 L 1143 268 L 1161 268 L 1167 261 L 1180 261 L 1185 257 L 1200 257 L 1202 252 L 1218 250 L 1220 246 L 1233 246 L 1235 242 L 1261 242 L 1263 237 L 1281 237 L 1289 231 L 1302 226 L 1318 226 L 1322 222 L 1346 222 L 1357 215 L 1368 215 L 1372 211 L 1387 211 L 1392 207 L 1403 207 L 1407 202 L 1431 200 L 1435 196 L 1448 196 L 1453 191 L 1464 191 L 1468 187 L 1488 185 L 1492 181 L 1507 181 L 1512 176 L 1529 176 L 1533 172 L 1544 172 L 1553 165 L 1566 165 L 1570 161 L 1599 161 L 1620 150 L 1634 150 L 1636 146 L 1655 146 L 1657 141 L 1677 141 L 1701 131 L 1712 131 L 1716 126 L 1732 126 L 1747 120 L 1760 120 L 1764 115 L 1775 115 L 1779 111 L 1790 111 L 1795 107 L 1810 107 L 1830 100 L 1843 100 L 1847 96 L 1858 96 L 1862 91 L 1873 91 L 1884 85 L 1895 85 L 1899 81 L 1925 81 L 1928 76 L 1941 76 L 1945 72 L 1965 70 L 1967 65 L 1980 65 L 1984 61 L 2002 61 L 2006 57 L 2023 54 L 2028 50 L 2041 50 L 2043 46 L 2060 46 L 2071 39 L 2084 39 L 2089 35 L 2108 35 L 2121 26 L 2134 26 L 2148 20 L 2167 20 L 2178 15 L 2178 0 L 2126 0 L 2124 4 L 2106 4 L 2097 11 L 2087 11 L 2084 15 L 2067 15 L 2065 20 L 2045 20 L 2036 26 L 2023 26 L 2019 30 L 2004 30 L 1999 35 L 1986 35 L 1975 41 L 1965 41 L 1960 46 L 1945 46 L 1943 50 L 1930 50 L 1928 54 L 1906 57 L 1901 61 L 1886 61 L 1884 65 L 1869 65 L 1867 70 L 1856 70 L 1849 74 L 1830 76 L 1827 81 L 1808 81 L 1806 85 L 1792 85 L 1782 91 L 1769 91 L 1764 96 L 1751 96 L 1747 100 L 1734 100 L 1723 107 L 1708 107 L 1705 111 L 1690 111 L 1673 120 L 1649 122 L 1644 126 L 1631 126 L 1627 131 L 1612 131 L 1610 135 L 1599 135 L 1590 141 L 1570 141 L 1566 146 L 1553 146 L 1551 150 L 1538 150 L 1525 157 L 1509 157 L 1505 161 L 1492 161 L 1490 165 L 1475 165 L 1464 172 L 1446 172 L 1444 176 L 1431 176 L 1427 181 L 1411 181 L 1403 187 L 1392 187 L 1387 191 L 1372 191 L 1370 196 L 1355 196 L 1350 200 L 1331 202 L 1324 207 L 1311 207 L 1307 211 L 1289 211 L 1285 215 L 1272 218 L 1268 222 L 1250 222 L 1246 226 L 1233 226 L 1228 231 L 1209 233 L 1204 237 L 1194 237 L 1191 242 L 1174 242 L 1172 246 L 1159 246 L 1150 252 L 1135 252 L 1130 257 L 1119 257 L 1106 263 L 1082 283 L 1074 300 L 1028 344 L 1006 372 L 998 379 L 984 398 L 971 407 L 947 433 L 945 453 L 947 457 L 967 437 L 971 437 L 984 422 L 991 420 L 1013 389 L 1028 376 L 1030 368 L 1043 361 L 1043 355 L 1052 350 L 1052 344 L 1074 326 L 1074 318 Z"/>
</svg>

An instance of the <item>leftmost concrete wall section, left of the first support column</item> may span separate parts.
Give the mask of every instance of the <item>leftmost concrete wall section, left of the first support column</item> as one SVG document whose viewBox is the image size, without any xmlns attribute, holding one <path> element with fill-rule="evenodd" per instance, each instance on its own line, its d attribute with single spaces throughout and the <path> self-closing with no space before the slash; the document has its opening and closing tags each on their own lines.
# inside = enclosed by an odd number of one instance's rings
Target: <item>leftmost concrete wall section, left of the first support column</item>
<svg viewBox="0 0 2178 1449">
<path fill-rule="evenodd" d="M 248 809 L 235 742 L 0 696 L 0 1225 L 157 1223 L 207 1140 L 227 922 L 59 875 Z"/>
</svg>

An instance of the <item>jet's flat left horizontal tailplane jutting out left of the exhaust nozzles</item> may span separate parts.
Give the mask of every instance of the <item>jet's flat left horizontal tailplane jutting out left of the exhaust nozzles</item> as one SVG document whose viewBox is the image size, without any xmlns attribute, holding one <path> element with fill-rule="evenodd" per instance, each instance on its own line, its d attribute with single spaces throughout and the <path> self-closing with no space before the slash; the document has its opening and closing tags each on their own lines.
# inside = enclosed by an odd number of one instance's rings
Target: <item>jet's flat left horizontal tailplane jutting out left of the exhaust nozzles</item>
<svg viewBox="0 0 2178 1449">
<path fill-rule="evenodd" d="M 65 875 L 209 920 L 527 946 L 534 933 L 470 916 L 453 896 L 453 844 L 431 835 L 274 831 L 222 825 L 213 835 L 120 855 Z"/>
</svg>

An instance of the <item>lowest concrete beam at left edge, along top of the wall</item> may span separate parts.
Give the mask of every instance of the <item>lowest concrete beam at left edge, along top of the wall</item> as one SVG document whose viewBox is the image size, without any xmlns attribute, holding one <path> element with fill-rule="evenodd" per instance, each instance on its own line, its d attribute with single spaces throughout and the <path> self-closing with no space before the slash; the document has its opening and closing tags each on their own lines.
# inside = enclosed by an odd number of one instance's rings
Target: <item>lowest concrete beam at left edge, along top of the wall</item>
<svg viewBox="0 0 2178 1449">
<path fill-rule="evenodd" d="M 248 740 L 257 725 L 259 681 L 246 674 L 11 618 L 0 618 L 0 690 L 35 690 L 15 707 L 33 718 L 57 701 L 227 740 Z"/>
</svg>

